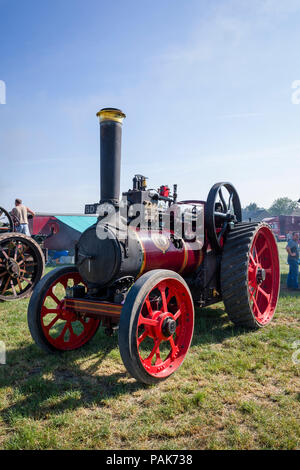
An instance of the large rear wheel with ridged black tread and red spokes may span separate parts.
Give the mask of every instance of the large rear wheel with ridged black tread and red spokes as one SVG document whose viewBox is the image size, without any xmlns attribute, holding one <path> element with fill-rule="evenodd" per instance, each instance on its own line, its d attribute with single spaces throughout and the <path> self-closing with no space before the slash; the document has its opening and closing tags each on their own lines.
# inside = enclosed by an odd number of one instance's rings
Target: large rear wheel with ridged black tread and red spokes
<svg viewBox="0 0 300 470">
<path fill-rule="evenodd" d="M 238 326 L 261 328 L 273 318 L 280 287 L 276 241 L 265 223 L 237 224 L 227 236 L 221 261 L 226 312 Z"/>
</svg>

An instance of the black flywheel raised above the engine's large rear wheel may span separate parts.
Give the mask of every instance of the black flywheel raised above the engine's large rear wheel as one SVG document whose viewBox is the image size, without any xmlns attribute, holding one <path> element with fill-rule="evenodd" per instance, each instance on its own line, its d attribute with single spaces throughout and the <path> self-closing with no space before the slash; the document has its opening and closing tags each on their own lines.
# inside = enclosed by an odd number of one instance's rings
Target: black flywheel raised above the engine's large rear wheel
<svg viewBox="0 0 300 470">
<path fill-rule="evenodd" d="M 241 220 L 242 207 L 234 186 L 231 183 L 214 184 L 205 204 L 205 229 L 214 251 L 222 251 L 231 225 Z"/>
</svg>

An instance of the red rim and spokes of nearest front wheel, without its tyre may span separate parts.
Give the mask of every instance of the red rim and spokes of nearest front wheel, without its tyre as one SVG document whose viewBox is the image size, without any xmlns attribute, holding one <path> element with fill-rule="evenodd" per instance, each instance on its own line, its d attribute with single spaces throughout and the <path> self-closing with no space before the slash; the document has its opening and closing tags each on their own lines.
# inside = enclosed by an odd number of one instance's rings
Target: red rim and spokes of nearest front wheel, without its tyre
<svg viewBox="0 0 300 470">
<path fill-rule="evenodd" d="M 160 292 L 160 305 L 153 300 L 156 292 Z M 177 279 L 158 282 L 144 299 L 137 322 L 137 350 L 147 373 L 157 378 L 172 374 L 189 350 L 193 328 L 193 305 L 185 286 Z M 149 339 L 153 344 L 148 355 L 149 349 L 146 352 L 141 350 Z M 163 354 L 162 348 L 165 349 Z"/>
</svg>

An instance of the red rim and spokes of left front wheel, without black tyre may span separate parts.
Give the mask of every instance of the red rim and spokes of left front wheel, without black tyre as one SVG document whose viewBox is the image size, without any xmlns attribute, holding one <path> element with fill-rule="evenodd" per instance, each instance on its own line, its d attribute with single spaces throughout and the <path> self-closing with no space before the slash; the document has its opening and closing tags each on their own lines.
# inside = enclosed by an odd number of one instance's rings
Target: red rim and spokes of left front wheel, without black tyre
<svg viewBox="0 0 300 470">
<path fill-rule="evenodd" d="M 78 317 L 64 307 L 66 287 L 73 284 L 84 284 L 78 272 L 61 275 L 48 288 L 41 307 L 41 327 L 47 341 L 56 349 L 70 351 L 83 346 L 95 334 L 99 321 L 90 317 Z M 61 286 L 61 295 L 54 292 Z M 64 293 L 63 293 L 64 291 Z M 45 304 L 52 301 L 55 308 L 49 308 Z M 49 318 L 52 315 L 52 318 Z M 80 325 L 81 327 L 80 327 Z M 76 326 L 76 328 L 75 328 Z M 81 331 L 76 334 L 80 327 Z"/>
</svg>

